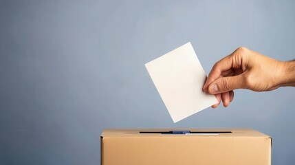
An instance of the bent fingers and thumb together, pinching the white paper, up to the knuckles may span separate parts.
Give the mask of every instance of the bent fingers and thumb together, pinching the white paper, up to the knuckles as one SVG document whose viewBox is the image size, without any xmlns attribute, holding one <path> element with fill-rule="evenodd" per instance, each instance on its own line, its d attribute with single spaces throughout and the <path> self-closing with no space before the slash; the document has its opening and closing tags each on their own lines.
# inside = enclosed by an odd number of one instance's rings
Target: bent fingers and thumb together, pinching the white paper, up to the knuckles
<svg viewBox="0 0 295 165">
<path fill-rule="evenodd" d="M 239 47 L 212 67 L 203 87 L 204 91 L 215 94 L 218 100 L 218 103 L 212 105 L 212 108 L 216 108 L 221 100 L 223 106 L 228 107 L 234 99 L 233 90 L 246 88 L 245 76 L 248 68 L 248 53 L 247 48 Z"/>
</svg>

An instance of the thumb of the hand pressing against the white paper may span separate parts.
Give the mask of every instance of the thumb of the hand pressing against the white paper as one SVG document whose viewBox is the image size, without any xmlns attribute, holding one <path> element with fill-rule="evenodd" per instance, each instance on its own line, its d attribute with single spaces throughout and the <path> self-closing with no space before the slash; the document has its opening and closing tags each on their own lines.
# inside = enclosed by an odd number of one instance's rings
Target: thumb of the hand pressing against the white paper
<svg viewBox="0 0 295 165">
<path fill-rule="evenodd" d="M 238 76 L 217 78 L 209 85 L 208 92 L 210 94 L 221 94 L 240 88 L 243 88 L 243 77 L 241 74 Z"/>
</svg>

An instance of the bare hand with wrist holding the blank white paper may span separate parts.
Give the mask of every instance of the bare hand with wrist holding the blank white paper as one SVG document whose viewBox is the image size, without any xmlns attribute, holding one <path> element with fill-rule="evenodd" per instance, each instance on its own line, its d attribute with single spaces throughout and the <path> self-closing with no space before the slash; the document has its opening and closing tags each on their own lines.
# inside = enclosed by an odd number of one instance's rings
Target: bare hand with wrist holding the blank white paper
<svg viewBox="0 0 295 165">
<path fill-rule="evenodd" d="M 234 89 L 271 91 L 278 87 L 295 86 L 295 62 L 281 62 L 263 56 L 245 47 L 222 58 L 212 67 L 203 90 L 215 94 L 228 107 L 234 98 Z"/>
</svg>

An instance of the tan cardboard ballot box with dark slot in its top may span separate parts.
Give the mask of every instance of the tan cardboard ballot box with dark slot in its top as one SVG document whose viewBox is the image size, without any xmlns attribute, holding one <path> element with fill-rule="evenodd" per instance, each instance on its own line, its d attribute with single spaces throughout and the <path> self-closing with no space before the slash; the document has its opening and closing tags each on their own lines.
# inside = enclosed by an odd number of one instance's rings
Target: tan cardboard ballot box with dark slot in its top
<svg viewBox="0 0 295 165">
<path fill-rule="evenodd" d="M 102 165 L 270 165 L 270 136 L 252 129 L 106 129 Z"/>
</svg>

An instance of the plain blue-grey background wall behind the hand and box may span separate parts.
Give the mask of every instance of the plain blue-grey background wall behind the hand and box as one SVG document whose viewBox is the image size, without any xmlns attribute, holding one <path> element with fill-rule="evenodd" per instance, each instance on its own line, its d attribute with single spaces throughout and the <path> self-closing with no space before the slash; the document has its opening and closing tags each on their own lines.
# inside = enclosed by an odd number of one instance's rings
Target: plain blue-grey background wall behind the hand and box
<svg viewBox="0 0 295 165">
<path fill-rule="evenodd" d="M 206 73 L 241 45 L 287 61 L 294 30 L 294 1 L 2 0 L 0 164 L 100 164 L 103 129 L 142 127 L 257 129 L 294 164 L 294 87 L 174 124 L 144 67 L 188 41 Z"/>
</svg>

